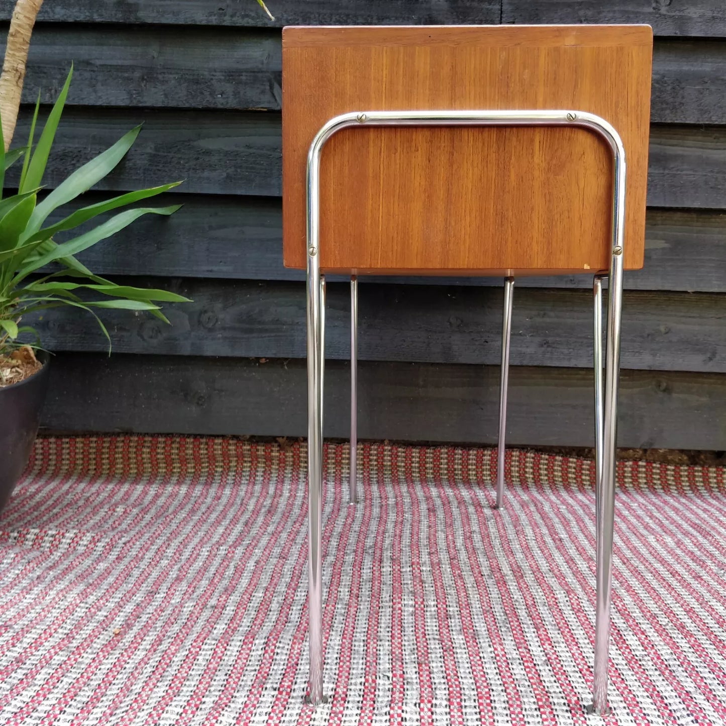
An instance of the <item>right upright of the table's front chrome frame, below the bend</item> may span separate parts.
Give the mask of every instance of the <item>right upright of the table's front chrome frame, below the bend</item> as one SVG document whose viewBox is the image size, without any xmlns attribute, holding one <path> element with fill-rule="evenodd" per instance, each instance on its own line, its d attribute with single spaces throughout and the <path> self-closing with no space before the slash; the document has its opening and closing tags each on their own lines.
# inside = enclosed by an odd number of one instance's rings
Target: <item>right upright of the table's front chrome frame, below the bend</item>
<svg viewBox="0 0 726 726">
<path fill-rule="evenodd" d="M 608 660 L 615 523 L 615 470 L 620 373 L 620 324 L 623 302 L 623 242 L 625 227 L 625 152 L 618 139 L 613 189 L 613 248 L 608 287 L 608 324 L 605 333 L 605 400 L 603 401 L 603 468 L 597 481 L 597 595 L 595 609 L 595 674 L 590 710 L 608 709 Z"/>
</svg>

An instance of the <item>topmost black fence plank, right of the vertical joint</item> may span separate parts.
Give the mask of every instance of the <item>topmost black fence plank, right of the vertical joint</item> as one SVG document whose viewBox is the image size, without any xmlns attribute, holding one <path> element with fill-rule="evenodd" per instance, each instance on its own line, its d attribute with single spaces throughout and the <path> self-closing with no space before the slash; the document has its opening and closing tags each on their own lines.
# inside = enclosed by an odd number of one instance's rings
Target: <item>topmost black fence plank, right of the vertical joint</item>
<svg viewBox="0 0 726 726">
<path fill-rule="evenodd" d="M 724 36 L 722 0 L 502 0 L 502 23 L 647 23 L 660 36 Z"/>
</svg>

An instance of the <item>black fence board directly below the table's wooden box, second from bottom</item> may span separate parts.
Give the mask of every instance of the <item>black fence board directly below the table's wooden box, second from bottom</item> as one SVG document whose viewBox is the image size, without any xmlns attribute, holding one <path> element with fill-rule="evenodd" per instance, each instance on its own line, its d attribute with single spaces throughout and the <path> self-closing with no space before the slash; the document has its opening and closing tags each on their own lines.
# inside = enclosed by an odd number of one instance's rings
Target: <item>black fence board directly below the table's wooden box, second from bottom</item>
<svg viewBox="0 0 726 726">
<path fill-rule="evenodd" d="M 120 353 L 303 358 L 305 285 L 298 282 L 150 280 L 192 303 L 165 306 L 171 325 L 149 314 L 102 311 Z M 726 297 L 706 293 L 629 292 L 624 296 L 622 366 L 726 371 Z M 361 285 L 359 359 L 497 364 L 502 292 L 494 287 Z M 94 320 L 77 309 L 28 316 L 56 351 L 105 351 Z M 326 355 L 350 355 L 348 285 L 327 293 Z M 592 366 L 592 293 L 515 291 L 513 365 Z"/>
</svg>

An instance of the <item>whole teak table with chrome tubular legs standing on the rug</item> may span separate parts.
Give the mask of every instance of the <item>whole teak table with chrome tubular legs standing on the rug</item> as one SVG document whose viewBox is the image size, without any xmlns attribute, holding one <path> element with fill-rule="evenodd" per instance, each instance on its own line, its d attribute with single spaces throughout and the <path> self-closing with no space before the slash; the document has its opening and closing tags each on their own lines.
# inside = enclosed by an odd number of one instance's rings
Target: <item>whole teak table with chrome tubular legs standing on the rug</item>
<svg viewBox="0 0 726 726">
<path fill-rule="evenodd" d="M 622 277 L 643 266 L 652 53 L 648 25 L 283 30 L 284 258 L 307 270 L 311 703 L 323 700 L 325 273 L 351 275 L 351 504 L 357 277 L 505 278 L 497 507 L 514 280 L 579 273 L 594 279 L 597 603 L 589 709 L 608 712 Z"/>
</svg>

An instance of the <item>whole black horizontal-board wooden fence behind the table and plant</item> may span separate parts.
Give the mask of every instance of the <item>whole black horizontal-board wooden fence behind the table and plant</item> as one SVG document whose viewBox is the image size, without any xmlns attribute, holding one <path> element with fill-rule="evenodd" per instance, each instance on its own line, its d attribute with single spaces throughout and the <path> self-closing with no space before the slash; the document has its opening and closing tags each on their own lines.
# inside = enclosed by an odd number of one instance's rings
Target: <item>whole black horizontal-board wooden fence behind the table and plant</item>
<svg viewBox="0 0 726 726">
<path fill-rule="evenodd" d="M 54 0 L 33 34 L 24 101 L 75 63 L 46 184 L 144 123 L 103 190 L 185 179 L 171 219 L 81 259 L 194 302 L 171 327 L 51 311 L 44 425 L 56 431 L 301 436 L 305 290 L 282 267 L 280 27 L 343 23 L 650 23 L 656 33 L 643 272 L 624 295 L 623 446 L 726 449 L 726 4 L 722 0 Z M 6 19 L 9 0 L 0 0 Z M 16 141 L 28 130 L 25 107 Z M 12 181 L 12 180 L 11 180 Z M 97 198 L 92 192 L 89 197 Z M 501 280 L 360 285 L 364 438 L 496 439 Z M 592 442 L 585 278 L 515 290 L 510 441 Z M 348 297 L 329 285 L 326 434 L 348 431 Z"/>
</svg>

